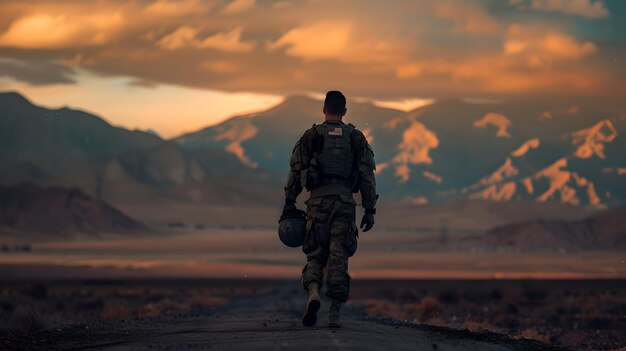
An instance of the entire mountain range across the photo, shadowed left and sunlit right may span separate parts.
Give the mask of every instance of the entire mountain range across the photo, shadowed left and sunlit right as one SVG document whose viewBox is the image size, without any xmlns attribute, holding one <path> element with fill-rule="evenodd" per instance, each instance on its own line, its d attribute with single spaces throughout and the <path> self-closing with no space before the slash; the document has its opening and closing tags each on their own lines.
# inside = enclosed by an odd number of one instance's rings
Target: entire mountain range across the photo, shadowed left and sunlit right
<svg viewBox="0 0 626 351">
<path fill-rule="evenodd" d="M 291 150 L 321 109 L 292 96 L 165 140 L 0 93 L 0 183 L 78 187 L 109 202 L 275 203 Z M 375 150 L 385 200 L 607 207 L 626 199 L 623 111 L 593 99 L 444 99 L 409 112 L 349 101 L 346 121 Z"/>
</svg>

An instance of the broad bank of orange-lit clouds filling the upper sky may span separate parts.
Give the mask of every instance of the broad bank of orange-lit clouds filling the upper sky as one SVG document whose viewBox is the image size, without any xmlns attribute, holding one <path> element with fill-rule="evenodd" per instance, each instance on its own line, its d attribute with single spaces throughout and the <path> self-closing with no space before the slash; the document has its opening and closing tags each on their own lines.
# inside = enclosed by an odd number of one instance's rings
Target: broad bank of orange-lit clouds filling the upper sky
<svg viewBox="0 0 626 351">
<path fill-rule="evenodd" d="M 0 2 L 0 57 L 23 60 L 25 69 L 34 61 L 62 62 L 155 84 L 280 95 L 324 91 L 329 80 L 388 100 L 626 91 L 608 56 L 615 52 L 599 35 L 581 39 L 567 31 L 576 18 L 500 16 L 506 6 L 456 0 L 334 2 L 345 15 L 333 18 L 329 4 Z"/>
</svg>

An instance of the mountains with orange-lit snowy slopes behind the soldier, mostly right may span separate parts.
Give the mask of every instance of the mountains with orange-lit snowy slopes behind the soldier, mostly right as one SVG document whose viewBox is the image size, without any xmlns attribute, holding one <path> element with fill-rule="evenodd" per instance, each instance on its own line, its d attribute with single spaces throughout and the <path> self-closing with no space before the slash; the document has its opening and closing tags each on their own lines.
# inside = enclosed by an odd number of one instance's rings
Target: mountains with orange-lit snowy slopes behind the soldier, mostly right
<svg viewBox="0 0 626 351">
<path fill-rule="evenodd" d="M 294 96 L 174 141 L 187 150 L 222 148 L 251 169 L 284 171 L 302 132 L 322 121 L 321 105 Z M 346 121 L 372 144 L 385 198 L 592 207 L 626 198 L 626 114 L 610 104 L 446 99 L 402 112 L 350 102 Z"/>
</svg>

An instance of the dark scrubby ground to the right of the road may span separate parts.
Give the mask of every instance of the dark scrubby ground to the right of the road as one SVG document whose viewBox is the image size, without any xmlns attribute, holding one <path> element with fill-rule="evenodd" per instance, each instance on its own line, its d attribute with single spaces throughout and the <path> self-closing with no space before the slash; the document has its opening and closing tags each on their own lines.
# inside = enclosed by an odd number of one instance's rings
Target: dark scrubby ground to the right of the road
<svg viewBox="0 0 626 351">
<path fill-rule="evenodd" d="M 373 316 L 489 330 L 576 350 L 626 347 L 624 281 L 403 281 L 383 285 L 357 281 L 355 285 L 350 304 Z"/>
</svg>

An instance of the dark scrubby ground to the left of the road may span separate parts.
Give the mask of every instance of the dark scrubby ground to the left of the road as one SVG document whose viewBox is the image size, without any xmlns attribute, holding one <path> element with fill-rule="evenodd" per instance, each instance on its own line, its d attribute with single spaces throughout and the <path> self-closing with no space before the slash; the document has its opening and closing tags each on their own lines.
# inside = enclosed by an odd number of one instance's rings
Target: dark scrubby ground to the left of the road
<svg viewBox="0 0 626 351">
<path fill-rule="evenodd" d="M 207 311 L 270 284 L 222 281 L 3 283 L 0 335 L 94 323 Z"/>
</svg>

